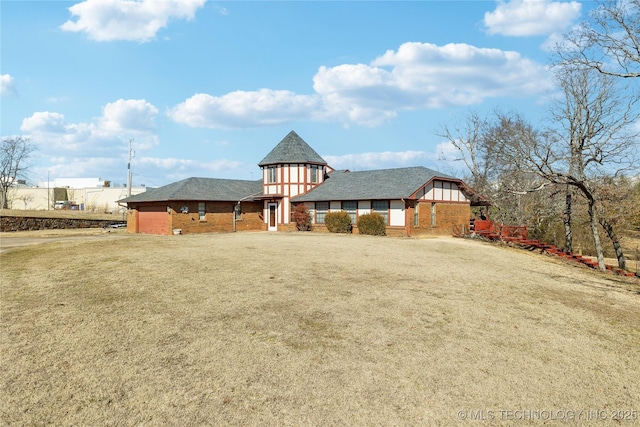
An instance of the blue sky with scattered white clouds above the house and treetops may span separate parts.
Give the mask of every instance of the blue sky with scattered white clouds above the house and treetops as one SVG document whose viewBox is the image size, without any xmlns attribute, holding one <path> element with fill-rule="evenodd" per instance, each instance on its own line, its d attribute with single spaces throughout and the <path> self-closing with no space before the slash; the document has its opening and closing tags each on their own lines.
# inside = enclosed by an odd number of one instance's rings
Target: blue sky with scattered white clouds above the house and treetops
<svg viewBox="0 0 640 427">
<path fill-rule="evenodd" d="M 295 130 L 332 167 L 461 174 L 470 111 L 544 120 L 549 47 L 592 2 L 0 1 L 1 134 L 29 181 L 258 179 Z"/>
</svg>

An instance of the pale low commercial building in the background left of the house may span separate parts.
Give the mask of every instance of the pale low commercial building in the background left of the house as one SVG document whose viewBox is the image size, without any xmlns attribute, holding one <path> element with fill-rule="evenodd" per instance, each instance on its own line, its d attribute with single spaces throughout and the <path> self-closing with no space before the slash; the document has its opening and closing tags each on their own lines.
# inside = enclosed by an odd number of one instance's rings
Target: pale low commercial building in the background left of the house
<svg viewBox="0 0 640 427">
<path fill-rule="evenodd" d="M 56 199 L 56 188 L 66 190 L 66 199 Z M 131 187 L 131 195 L 144 193 L 145 186 Z M 58 194 L 60 191 L 58 191 Z M 54 209 L 55 203 L 69 201 L 78 210 L 86 212 L 124 212 L 125 207 L 117 201 L 129 196 L 126 185 L 111 186 L 100 178 L 56 178 L 50 182 L 38 182 L 35 187 L 22 183 L 9 189 L 7 199 L 10 209 L 47 210 Z"/>
</svg>

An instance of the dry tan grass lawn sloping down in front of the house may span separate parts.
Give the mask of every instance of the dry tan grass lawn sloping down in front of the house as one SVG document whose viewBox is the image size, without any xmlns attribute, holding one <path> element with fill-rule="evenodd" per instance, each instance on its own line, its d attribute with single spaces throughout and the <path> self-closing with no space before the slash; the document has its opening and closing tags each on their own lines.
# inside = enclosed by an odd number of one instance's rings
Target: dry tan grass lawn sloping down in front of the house
<svg viewBox="0 0 640 427">
<path fill-rule="evenodd" d="M 0 254 L 1 423 L 640 424 L 635 278 L 454 238 L 103 237 Z"/>
</svg>

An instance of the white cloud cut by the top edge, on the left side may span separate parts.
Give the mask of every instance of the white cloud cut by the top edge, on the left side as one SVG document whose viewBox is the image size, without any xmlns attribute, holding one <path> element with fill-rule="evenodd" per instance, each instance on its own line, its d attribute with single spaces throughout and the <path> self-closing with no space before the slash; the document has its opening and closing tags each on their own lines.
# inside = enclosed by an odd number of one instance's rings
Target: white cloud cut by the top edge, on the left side
<svg viewBox="0 0 640 427">
<path fill-rule="evenodd" d="M 84 32 L 96 41 L 147 42 L 165 28 L 170 19 L 194 18 L 206 0 L 86 0 L 69 8 L 77 19 L 60 28 Z"/>
</svg>

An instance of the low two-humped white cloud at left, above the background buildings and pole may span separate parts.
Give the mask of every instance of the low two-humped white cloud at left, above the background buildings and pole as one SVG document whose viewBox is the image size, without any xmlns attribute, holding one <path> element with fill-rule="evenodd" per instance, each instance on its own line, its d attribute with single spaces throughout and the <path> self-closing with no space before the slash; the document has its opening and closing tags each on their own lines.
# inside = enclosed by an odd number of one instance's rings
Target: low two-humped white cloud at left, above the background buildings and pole
<svg viewBox="0 0 640 427">
<path fill-rule="evenodd" d="M 102 116 L 89 123 L 67 123 L 63 114 L 39 111 L 22 120 L 20 129 L 45 150 L 83 151 L 95 155 L 136 138 L 139 148 L 157 144 L 155 117 L 158 109 L 144 99 L 119 99 L 105 105 Z"/>
</svg>

